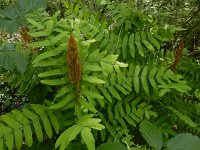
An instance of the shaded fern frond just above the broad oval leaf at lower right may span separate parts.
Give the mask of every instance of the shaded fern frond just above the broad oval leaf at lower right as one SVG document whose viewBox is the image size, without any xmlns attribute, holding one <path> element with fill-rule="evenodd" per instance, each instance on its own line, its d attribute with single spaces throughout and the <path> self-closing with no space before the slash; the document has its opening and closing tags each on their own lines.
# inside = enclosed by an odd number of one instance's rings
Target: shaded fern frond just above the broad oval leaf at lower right
<svg viewBox="0 0 200 150">
<path fill-rule="evenodd" d="M 121 138 L 121 130 L 135 127 L 143 120 L 157 117 L 152 111 L 152 106 L 141 102 L 141 98 L 134 99 L 133 95 L 127 96 L 124 101 L 117 101 L 108 105 L 101 112 L 101 119 L 106 129 L 113 138 Z M 101 134 L 105 134 L 101 131 Z M 125 133 L 128 133 L 127 131 Z M 101 135 L 103 137 L 103 135 Z"/>
</svg>

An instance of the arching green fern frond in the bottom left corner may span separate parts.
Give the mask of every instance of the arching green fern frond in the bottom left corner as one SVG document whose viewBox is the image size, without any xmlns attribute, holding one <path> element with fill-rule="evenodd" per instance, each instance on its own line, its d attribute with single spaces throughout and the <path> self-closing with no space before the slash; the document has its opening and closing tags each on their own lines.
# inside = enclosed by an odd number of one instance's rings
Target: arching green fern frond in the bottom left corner
<svg viewBox="0 0 200 150">
<path fill-rule="evenodd" d="M 30 147 L 33 144 L 34 134 L 40 142 L 43 141 L 44 133 L 51 139 L 52 128 L 57 134 L 59 133 L 59 123 L 53 112 L 47 107 L 36 104 L 32 104 L 29 108 L 23 108 L 21 111 L 12 110 L 10 113 L 2 115 L 0 127 L 0 148 L 2 150 L 4 147 L 9 150 L 14 147 L 20 149 L 24 140 Z"/>
</svg>

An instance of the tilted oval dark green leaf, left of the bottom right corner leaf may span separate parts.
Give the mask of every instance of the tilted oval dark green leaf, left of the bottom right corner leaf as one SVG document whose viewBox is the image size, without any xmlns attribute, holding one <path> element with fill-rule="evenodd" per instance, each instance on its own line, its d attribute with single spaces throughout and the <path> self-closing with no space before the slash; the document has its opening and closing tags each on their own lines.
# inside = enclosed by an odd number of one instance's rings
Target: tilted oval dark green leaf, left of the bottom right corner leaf
<svg viewBox="0 0 200 150">
<path fill-rule="evenodd" d="M 161 131 L 152 123 L 144 120 L 139 128 L 146 142 L 154 149 L 161 150 L 163 146 L 163 138 Z"/>
</svg>

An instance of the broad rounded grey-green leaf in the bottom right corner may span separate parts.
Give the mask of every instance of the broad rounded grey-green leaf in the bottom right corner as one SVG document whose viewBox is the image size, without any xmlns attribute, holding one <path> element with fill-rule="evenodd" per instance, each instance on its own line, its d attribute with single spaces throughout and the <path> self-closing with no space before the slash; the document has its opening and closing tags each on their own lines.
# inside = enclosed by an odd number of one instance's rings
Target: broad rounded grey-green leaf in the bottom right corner
<svg viewBox="0 0 200 150">
<path fill-rule="evenodd" d="M 191 133 L 177 134 L 167 143 L 168 150 L 199 150 L 200 139 Z"/>
</svg>

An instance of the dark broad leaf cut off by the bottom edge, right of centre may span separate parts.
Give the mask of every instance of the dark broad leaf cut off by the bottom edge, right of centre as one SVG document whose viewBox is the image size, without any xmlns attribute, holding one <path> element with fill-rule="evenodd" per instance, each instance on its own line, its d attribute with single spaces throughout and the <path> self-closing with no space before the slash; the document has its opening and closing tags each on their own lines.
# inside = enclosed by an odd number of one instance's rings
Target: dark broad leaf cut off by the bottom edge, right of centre
<svg viewBox="0 0 200 150">
<path fill-rule="evenodd" d="M 128 150 L 128 148 L 120 142 L 108 142 L 101 144 L 97 150 Z"/>
</svg>

